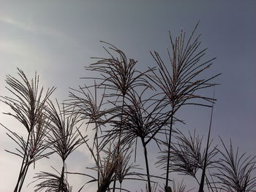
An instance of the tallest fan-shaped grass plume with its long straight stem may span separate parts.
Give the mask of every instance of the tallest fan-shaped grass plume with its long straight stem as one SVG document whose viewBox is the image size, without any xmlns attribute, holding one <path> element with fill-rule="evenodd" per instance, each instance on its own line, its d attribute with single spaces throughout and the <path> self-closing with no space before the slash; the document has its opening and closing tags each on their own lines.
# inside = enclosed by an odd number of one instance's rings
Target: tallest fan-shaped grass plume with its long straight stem
<svg viewBox="0 0 256 192">
<path fill-rule="evenodd" d="M 167 55 L 170 59 L 170 69 L 165 65 L 165 62 L 162 61 L 159 53 L 156 51 L 151 53 L 154 60 L 157 62 L 159 69 L 151 70 L 152 75 L 148 77 L 162 91 L 162 97 L 166 99 L 166 104 L 170 106 L 170 130 L 167 142 L 167 169 L 165 179 L 166 186 L 168 185 L 169 178 L 173 117 L 177 110 L 186 104 L 211 107 L 211 105 L 203 104 L 200 101 L 196 101 L 196 99 L 208 102 L 212 102 L 214 99 L 200 96 L 197 94 L 197 91 L 216 85 L 210 81 L 219 75 L 217 74 L 206 79 L 200 78 L 200 74 L 211 66 L 211 61 L 214 61 L 215 58 L 201 61 L 203 55 L 206 54 L 207 49 L 200 50 L 200 35 L 194 38 L 196 28 L 197 26 L 195 26 L 188 40 L 186 39 L 184 31 L 181 31 L 181 34 L 176 37 L 175 42 L 173 42 L 173 38 L 170 35 L 172 52 L 170 53 L 170 51 L 167 50 Z"/>
</svg>

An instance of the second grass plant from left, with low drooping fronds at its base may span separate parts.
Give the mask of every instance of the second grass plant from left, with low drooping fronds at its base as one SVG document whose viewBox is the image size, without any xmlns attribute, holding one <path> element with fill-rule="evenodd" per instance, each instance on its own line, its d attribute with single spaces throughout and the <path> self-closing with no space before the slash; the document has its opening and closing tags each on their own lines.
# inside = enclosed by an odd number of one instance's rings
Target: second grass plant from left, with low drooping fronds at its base
<svg viewBox="0 0 256 192">
<path fill-rule="evenodd" d="M 64 179 L 65 161 L 70 153 L 83 144 L 84 139 L 87 137 L 80 137 L 78 132 L 79 126 L 76 127 L 78 123 L 78 115 L 71 113 L 71 115 L 67 116 L 64 106 L 61 110 L 57 100 L 56 104 L 58 106 L 57 109 L 53 102 L 49 101 L 48 114 L 50 120 L 50 134 L 48 135 L 48 142 L 50 143 L 50 147 L 53 152 L 57 153 L 61 157 L 61 174 L 59 177 L 58 175 L 49 172 L 39 173 L 36 178 L 43 180 L 43 182 L 36 186 L 38 191 L 45 189 L 45 191 L 56 190 L 59 192 L 64 191 L 64 189 L 69 189 L 67 187 L 67 180 Z M 53 189 L 50 189 L 49 186 L 52 185 L 52 183 L 54 183 L 53 186 L 58 184 L 58 188 L 54 187 Z"/>
</svg>

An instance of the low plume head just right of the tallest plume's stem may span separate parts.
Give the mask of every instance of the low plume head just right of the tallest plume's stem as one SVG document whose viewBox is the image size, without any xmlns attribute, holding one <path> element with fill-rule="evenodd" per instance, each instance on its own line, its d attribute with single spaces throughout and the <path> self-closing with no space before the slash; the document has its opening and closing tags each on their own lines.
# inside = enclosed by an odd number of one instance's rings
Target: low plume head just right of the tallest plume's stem
<svg viewBox="0 0 256 192">
<path fill-rule="evenodd" d="M 203 170 L 204 161 L 206 159 L 206 168 L 209 169 L 217 161 L 214 160 L 214 156 L 217 155 L 218 151 L 214 147 L 208 150 L 206 157 L 206 149 L 203 149 L 203 137 L 200 137 L 195 131 L 193 134 L 189 131 L 189 136 L 187 137 L 181 131 L 176 131 L 176 142 L 172 142 L 170 146 L 170 172 L 178 172 L 184 175 L 190 175 L 195 178 L 198 184 L 197 172 L 199 169 Z M 163 145 L 167 145 L 164 142 Z M 211 142 L 209 143 L 209 147 Z M 159 156 L 159 161 L 157 164 L 162 169 L 167 169 L 167 150 L 161 152 L 163 155 Z M 207 180 L 208 182 L 208 180 Z M 208 182 L 209 184 L 209 182 Z"/>
</svg>

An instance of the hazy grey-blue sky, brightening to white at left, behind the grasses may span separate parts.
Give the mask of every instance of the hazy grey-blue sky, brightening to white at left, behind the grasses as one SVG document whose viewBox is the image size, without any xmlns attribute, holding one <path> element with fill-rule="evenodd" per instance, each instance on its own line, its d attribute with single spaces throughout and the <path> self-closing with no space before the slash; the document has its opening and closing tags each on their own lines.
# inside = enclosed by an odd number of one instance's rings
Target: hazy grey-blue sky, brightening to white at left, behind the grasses
<svg viewBox="0 0 256 192">
<path fill-rule="evenodd" d="M 181 29 L 191 31 L 200 20 L 197 34 L 208 47 L 206 58 L 217 57 L 206 74 L 221 76 L 215 80 L 217 104 L 214 107 L 212 138 L 233 140 L 241 152 L 256 155 L 256 1 L 0 1 L 0 95 L 10 96 L 5 88 L 6 75 L 17 77 L 17 67 L 34 77 L 40 85 L 55 86 L 53 98 L 67 99 L 69 88 L 86 83 L 80 77 L 83 68 L 105 56 L 102 43 L 110 42 L 138 61 L 143 70 L 155 66 L 150 51 L 166 55 L 173 36 Z M 212 94 L 212 90 L 208 91 Z M 23 128 L 2 114 L 10 109 L 0 103 L 0 123 L 23 134 Z M 181 111 L 187 128 L 206 134 L 210 110 L 188 107 Z M 12 191 L 17 180 L 20 159 L 4 151 L 13 142 L 0 127 L 0 191 Z M 152 149 L 150 153 L 156 153 Z M 153 160 L 152 160 L 153 161 Z M 30 169 L 25 185 L 34 172 L 59 166 L 57 156 Z M 85 146 L 69 159 L 70 171 L 84 171 L 91 159 Z M 84 177 L 70 177 L 74 191 Z M 23 191 L 32 191 L 33 184 Z M 140 187 L 138 188 L 140 190 Z M 95 191 L 86 185 L 86 191 Z"/>
</svg>

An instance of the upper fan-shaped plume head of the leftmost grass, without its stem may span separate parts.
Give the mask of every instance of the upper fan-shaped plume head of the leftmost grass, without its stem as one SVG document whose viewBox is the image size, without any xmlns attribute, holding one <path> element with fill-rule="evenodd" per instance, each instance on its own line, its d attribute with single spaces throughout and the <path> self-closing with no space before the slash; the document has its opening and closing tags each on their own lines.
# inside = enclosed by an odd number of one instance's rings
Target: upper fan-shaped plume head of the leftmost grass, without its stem
<svg viewBox="0 0 256 192">
<path fill-rule="evenodd" d="M 18 75 L 21 80 L 7 75 L 7 89 L 15 97 L 4 96 L 1 101 L 4 101 L 13 111 L 6 112 L 4 114 L 11 115 L 20 123 L 25 126 L 26 130 L 30 133 L 33 131 L 34 126 L 42 121 L 42 112 L 45 110 L 45 102 L 49 98 L 50 94 L 53 93 L 55 88 L 48 88 L 43 96 L 43 88 L 39 89 L 39 76 L 37 73 L 34 79 L 29 80 L 26 74 L 18 69 Z"/>
</svg>

